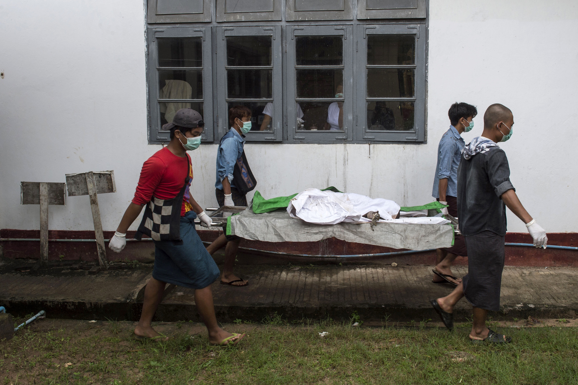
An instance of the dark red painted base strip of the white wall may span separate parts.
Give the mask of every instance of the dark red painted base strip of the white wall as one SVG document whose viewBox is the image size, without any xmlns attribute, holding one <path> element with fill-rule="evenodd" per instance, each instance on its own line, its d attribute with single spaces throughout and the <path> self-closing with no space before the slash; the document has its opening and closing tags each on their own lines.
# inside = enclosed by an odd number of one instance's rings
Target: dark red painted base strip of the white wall
<svg viewBox="0 0 578 385">
<path fill-rule="evenodd" d="M 212 242 L 222 231 L 199 230 L 202 240 Z M 134 231 L 129 231 L 127 238 L 134 236 Z M 114 235 L 113 231 L 105 231 L 105 239 Z M 1 229 L 0 238 L 39 238 L 38 230 Z M 94 231 L 49 231 L 49 239 L 94 239 Z M 509 233 L 506 235 L 507 243 L 532 243 L 529 234 Z M 578 233 L 550 233 L 548 243 L 558 246 L 578 246 Z M 40 254 L 39 242 L 1 242 L 2 254 L 5 258 L 38 258 Z M 365 245 L 362 243 L 350 243 L 336 238 L 324 239 L 319 242 L 260 242 L 257 240 L 242 240 L 241 247 L 250 247 L 266 251 L 277 251 L 307 255 L 347 255 L 347 254 L 373 254 L 398 251 L 389 247 Z M 106 249 L 106 257 L 109 261 L 138 260 L 150 262 L 154 258 L 154 244 L 151 241 L 128 242 L 122 253 L 114 253 Z M 49 260 L 81 260 L 87 262 L 98 261 L 97 246 L 92 242 L 49 242 Z M 347 260 L 347 261 L 346 261 Z M 408 265 L 433 265 L 435 264 L 435 252 L 405 254 L 399 256 L 370 257 L 370 258 L 298 258 L 281 257 L 272 254 L 260 254 L 260 259 L 255 260 L 253 253 L 239 253 L 240 264 L 252 263 L 279 263 L 287 261 L 325 261 L 325 262 L 356 262 L 356 263 L 379 263 L 386 264 L 396 262 Z M 467 265 L 468 258 L 458 257 L 456 265 Z M 578 267 L 578 251 L 559 249 L 535 249 L 533 247 L 506 246 L 506 265 L 508 266 L 572 266 Z"/>
</svg>

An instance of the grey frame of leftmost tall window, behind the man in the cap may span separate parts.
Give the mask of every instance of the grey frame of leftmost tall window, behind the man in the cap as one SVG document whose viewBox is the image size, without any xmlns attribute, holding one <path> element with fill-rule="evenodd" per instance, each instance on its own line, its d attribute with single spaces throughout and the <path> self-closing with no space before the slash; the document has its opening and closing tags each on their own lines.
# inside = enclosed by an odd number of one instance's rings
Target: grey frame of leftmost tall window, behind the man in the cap
<svg viewBox="0 0 578 385">
<path fill-rule="evenodd" d="M 202 39 L 203 53 L 203 121 L 205 128 L 201 134 L 202 142 L 214 141 L 213 125 L 213 54 L 211 49 L 212 30 L 210 27 L 176 27 L 176 28 L 148 28 L 147 39 L 149 42 L 148 55 L 148 79 L 149 79 L 149 143 L 158 144 L 169 142 L 169 131 L 163 131 L 161 127 L 159 101 L 164 102 L 186 102 L 181 99 L 158 99 L 158 69 L 173 69 L 172 67 L 158 66 L 158 46 L 157 38 L 194 38 Z M 178 67 L 175 69 L 187 69 L 187 67 Z M 201 99 L 190 99 L 198 102 Z"/>
</svg>

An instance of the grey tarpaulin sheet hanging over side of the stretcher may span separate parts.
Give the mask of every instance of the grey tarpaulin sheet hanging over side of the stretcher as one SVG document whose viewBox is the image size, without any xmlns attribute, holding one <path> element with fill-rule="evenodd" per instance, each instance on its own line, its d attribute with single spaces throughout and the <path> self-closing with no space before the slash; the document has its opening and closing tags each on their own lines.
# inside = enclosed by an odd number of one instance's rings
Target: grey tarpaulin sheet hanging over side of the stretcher
<svg viewBox="0 0 578 385">
<path fill-rule="evenodd" d="M 316 242 L 335 237 L 346 242 L 424 250 L 451 247 L 454 229 L 449 224 L 338 223 L 320 225 L 293 219 L 285 210 L 254 214 L 244 210 L 231 217 L 231 234 L 264 242 Z"/>
</svg>

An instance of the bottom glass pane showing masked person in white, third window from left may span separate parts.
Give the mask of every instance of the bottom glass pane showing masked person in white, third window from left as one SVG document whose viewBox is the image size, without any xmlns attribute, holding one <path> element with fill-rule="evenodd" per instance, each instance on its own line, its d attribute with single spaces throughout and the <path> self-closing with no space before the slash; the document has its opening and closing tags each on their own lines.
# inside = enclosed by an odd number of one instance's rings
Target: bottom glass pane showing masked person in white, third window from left
<svg viewBox="0 0 578 385">
<path fill-rule="evenodd" d="M 343 102 L 299 102 L 303 122 L 297 126 L 299 131 L 342 131 Z"/>
</svg>

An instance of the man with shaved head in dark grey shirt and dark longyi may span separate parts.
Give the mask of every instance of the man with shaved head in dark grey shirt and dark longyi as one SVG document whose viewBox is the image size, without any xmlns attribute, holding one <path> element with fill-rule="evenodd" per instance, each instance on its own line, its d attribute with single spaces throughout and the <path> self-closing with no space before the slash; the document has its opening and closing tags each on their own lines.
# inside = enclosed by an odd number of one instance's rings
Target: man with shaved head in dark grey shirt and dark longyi
<svg viewBox="0 0 578 385">
<path fill-rule="evenodd" d="M 462 297 L 472 303 L 473 324 L 469 338 L 473 342 L 510 342 L 486 327 L 488 311 L 498 311 L 504 265 L 506 206 L 524 221 L 534 246 L 546 248 L 546 231 L 520 203 L 510 182 L 506 153 L 497 145 L 510 139 L 512 111 L 492 104 L 484 114 L 484 131 L 464 148 L 458 168 L 458 220 L 468 249 L 468 274 L 454 291 L 431 305 L 443 323 L 453 328 L 453 309 Z"/>
</svg>

